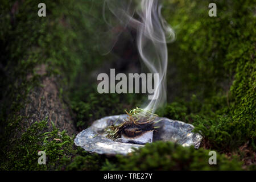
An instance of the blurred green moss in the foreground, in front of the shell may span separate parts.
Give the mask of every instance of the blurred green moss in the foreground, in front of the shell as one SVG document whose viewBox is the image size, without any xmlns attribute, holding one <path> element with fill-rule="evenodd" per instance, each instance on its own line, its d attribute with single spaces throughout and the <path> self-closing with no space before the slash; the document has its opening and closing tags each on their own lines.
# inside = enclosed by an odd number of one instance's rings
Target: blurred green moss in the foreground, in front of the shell
<svg viewBox="0 0 256 182">
<path fill-rule="evenodd" d="M 217 154 L 217 165 L 209 165 L 209 151 L 182 147 L 171 142 L 154 142 L 136 149 L 129 156 L 106 161 L 102 170 L 241 170 L 241 162 Z"/>
</svg>

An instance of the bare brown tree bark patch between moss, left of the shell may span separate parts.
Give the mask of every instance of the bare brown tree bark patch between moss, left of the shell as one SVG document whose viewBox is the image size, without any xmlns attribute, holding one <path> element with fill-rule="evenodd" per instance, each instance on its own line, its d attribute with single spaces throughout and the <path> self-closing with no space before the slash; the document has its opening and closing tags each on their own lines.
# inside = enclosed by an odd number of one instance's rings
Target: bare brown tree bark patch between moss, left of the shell
<svg viewBox="0 0 256 182">
<path fill-rule="evenodd" d="M 61 131 L 66 130 L 69 136 L 76 134 L 76 128 L 73 124 L 67 105 L 59 97 L 58 78 L 46 76 L 46 65 L 37 67 L 37 73 L 41 85 L 33 88 L 27 96 L 27 104 L 22 110 L 22 114 L 28 116 L 24 118 L 21 126 L 26 130 L 32 123 L 42 121 L 48 122 L 48 130 L 52 130 L 52 123 Z M 28 79 L 31 76 L 28 75 Z"/>
</svg>

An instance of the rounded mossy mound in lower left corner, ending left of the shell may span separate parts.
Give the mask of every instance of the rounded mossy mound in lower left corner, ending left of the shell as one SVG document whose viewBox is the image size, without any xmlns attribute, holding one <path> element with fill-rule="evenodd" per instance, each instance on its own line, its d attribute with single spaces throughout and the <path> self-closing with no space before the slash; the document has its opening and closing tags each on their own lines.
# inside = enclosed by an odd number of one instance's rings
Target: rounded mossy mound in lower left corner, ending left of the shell
<svg viewBox="0 0 256 182">
<path fill-rule="evenodd" d="M 52 123 L 53 125 L 53 123 Z M 60 168 L 66 159 L 75 154 L 73 138 L 65 131 L 53 127 L 51 132 L 45 132 L 47 122 L 35 122 L 19 139 L 13 140 L 2 160 L 1 169 L 5 170 L 46 170 Z M 46 165 L 38 164 L 38 151 L 46 152 Z"/>
</svg>

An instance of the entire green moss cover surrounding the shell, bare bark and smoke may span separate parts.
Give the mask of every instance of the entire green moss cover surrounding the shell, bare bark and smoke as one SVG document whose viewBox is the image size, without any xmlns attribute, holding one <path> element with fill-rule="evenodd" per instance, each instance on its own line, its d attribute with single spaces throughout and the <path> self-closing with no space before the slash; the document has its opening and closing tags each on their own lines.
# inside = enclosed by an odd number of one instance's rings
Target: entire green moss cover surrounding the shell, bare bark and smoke
<svg viewBox="0 0 256 182">
<path fill-rule="evenodd" d="M 217 4 L 217 17 L 208 16 L 210 2 Z M 21 119 L 30 117 L 19 113 L 26 96 L 40 86 L 36 65 L 61 77 L 60 97 L 78 131 L 144 98 L 97 93 L 90 75 L 117 60 L 95 46 L 105 30 L 101 1 L 44 1 L 45 18 L 37 15 L 39 3 L 0 3 L 1 170 L 256 169 L 255 1 L 164 1 L 163 16 L 177 39 L 168 44 L 168 103 L 158 114 L 192 123 L 204 140 L 199 150 L 156 142 L 112 158 L 77 148 L 75 135 L 48 131 L 45 120 L 16 136 Z M 46 151 L 46 165 L 38 164 L 39 150 Z M 210 150 L 217 151 L 216 166 L 208 164 Z"/>
</svg>

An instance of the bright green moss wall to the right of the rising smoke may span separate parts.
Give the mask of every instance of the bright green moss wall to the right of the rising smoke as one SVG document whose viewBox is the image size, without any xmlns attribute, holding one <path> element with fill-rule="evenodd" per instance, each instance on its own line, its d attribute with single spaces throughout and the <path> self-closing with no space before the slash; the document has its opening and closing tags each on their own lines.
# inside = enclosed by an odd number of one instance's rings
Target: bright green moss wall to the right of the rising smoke
<svg viewBox="0 0 256 182">
<path fill-rule="evenodd" d="M 217 5 L 217 17 L 208 16 L 210 2 Z M 167 105 L 164 115 L 192 123 L 210 147 L 220 151 L 232 151 L 247 141 L 253 146 L 254 2 L 170 0 L 165 5 L 163 14 L 177 35 L 168 50 L 179 84 L 175 102 Z"/>
</svg>

